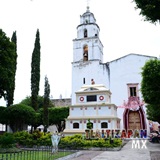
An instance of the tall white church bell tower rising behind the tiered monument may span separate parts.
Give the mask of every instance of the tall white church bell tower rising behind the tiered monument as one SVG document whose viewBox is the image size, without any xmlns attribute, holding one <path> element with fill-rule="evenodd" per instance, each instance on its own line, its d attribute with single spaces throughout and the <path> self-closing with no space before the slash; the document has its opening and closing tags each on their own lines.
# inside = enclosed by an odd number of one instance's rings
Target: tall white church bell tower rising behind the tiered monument
<svg viewBox="0 0 160 160">
<path fill-rule="evenodd" d="M 108 64 L 103 63 L 103 45 L 99 39 L 100 28 L 94 14 L 87 7 L 80 16 L 77 26 L 77 38 L 73 40 L 72 62 L 72 105 L 76 102 L 75 92 L 82 85 L 104 84 L 109 88 Z"/>
</svg>

